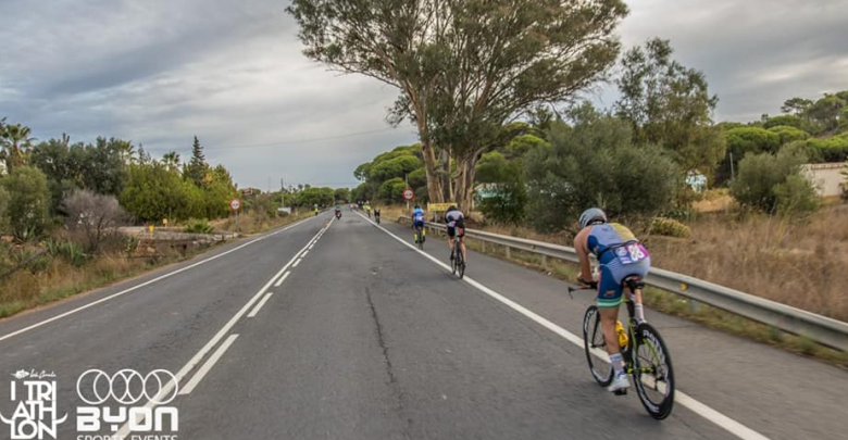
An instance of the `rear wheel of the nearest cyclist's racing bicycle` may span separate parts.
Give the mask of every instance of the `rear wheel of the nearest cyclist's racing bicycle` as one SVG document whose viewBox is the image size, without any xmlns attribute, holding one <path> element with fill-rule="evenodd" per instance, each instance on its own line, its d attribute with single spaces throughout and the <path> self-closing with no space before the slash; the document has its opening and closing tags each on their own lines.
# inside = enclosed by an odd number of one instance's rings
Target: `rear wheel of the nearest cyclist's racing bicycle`
<svg viewBox="0 0 848 440">
<path fill-rule="evenodd" d="M 636 328 L 632 356 L 639 400 L 651 417 L 662 420 L 674 406 L 674 369 L 669 348 L 650 324 L 641 323 Z"/>
</svg>

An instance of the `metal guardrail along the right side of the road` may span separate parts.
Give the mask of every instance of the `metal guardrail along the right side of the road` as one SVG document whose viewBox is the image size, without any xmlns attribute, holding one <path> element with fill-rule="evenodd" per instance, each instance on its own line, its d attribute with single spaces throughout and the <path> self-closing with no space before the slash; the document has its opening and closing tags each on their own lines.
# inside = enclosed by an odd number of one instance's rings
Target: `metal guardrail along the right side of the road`
<svg viewBox="0 0 848 440">
<path fill-rule="evenodd" d="M 400 216 L 398 221 L 411 222 L 411 218 Z M 429 222 L 427 228 L 446 230 L 445 225 Z M 546 256 L 577 262 L 574 248 L 473 229 L 465 229 L 465 236 L 479 240 L 484 246 L 484 252 L 487 242 L 504 247 L 507 257 L 510 256 L 510 249 L 519 249 L 543 255 L 543 265 L 547 265 Z M 661 268 L 651 268 L 645 282 L 689 300 L 774 326 L 783 331 L 806 336 L 823 345 L 848 351 L 848 323 Z"/>
</svg>

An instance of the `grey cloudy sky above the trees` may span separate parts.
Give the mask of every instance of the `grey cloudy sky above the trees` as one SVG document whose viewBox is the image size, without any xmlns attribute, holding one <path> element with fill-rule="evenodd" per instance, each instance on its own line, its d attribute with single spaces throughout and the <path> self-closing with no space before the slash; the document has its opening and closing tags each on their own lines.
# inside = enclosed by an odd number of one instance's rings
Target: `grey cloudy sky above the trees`
<svg viewBox="0 0 848 440">
<path fill-rule="evenodd" d="M 397 92 L 308 61 L 285 0 L 0 0 L 0 117 L 38 139 L 115 136 L 207 159 L 239 186 L 356 186 L 415 141 L 385 122 Z M 625 47 L 668 38 L 719 95 L 716 121 L 848 89 L 848 0 L 636 0 Z M 591 96 L 609 105 L 614 90 Z"/>
</svg>

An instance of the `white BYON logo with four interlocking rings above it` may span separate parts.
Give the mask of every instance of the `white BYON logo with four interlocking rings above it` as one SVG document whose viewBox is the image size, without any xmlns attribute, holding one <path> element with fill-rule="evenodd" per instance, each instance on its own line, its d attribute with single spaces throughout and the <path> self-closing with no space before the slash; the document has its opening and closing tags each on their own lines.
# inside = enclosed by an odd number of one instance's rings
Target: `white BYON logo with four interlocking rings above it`
<svg viewBox="0 0 848 440">
<path fill-rule="evenodd" d="M 76 429 L 80 433 L 100 432 L 103 429 L 117 432 L 103 436 L 103 439 L 127 438 L 125 436 L 128 432 L 176 432 L 179 427 L 177 408 L 165 405 L 177 397 L 177 388 L 176 377 L 166 369 L 154 369 L 147 375 L 129 368 L 112 375 L 100 369 L 89 369 L 76 381 L 79 399 L 90 405 L 76 408 Z M 144 436 L 146 439 L 159 440 L 176 437 Z"/>
</svg>

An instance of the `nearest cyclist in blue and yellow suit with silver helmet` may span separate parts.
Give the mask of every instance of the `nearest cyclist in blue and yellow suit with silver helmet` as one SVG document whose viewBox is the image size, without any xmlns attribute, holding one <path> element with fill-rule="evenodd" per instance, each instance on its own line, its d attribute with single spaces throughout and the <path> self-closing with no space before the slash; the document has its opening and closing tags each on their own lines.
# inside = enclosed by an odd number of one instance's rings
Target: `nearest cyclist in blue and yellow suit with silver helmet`
<svg viewBox="0 0 848 440">
<path fill-rule="evenodd" d="M 601 318 L 603 340 L 607 352 L 615 372 L 609 391 L 619 391 L 631 386 L 624 361 L 619 349 L 616 320 L 619 305 L 623 302 L 624 290 L 633 298 L 636 320 L 645 322 L 645 310 L 641 305 L 641 291 L 631 292 L 622 286 L 622 280 L 628 276 L 645 277 L 651 266 L 651 259 L 645 247 L 639 243 L 633 232 L 618 223 L 607 223 L 607 214 L 599 208 L 591 208 L 581 214 L 581 231 L 574 237 L 574 250 L 581 265 L 577 282 L 597 287 L 598 310 Z M 600 277 L 593 279 L 589 253 L 595 254 L 600 265 Z"/>
</svg>

